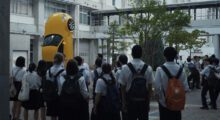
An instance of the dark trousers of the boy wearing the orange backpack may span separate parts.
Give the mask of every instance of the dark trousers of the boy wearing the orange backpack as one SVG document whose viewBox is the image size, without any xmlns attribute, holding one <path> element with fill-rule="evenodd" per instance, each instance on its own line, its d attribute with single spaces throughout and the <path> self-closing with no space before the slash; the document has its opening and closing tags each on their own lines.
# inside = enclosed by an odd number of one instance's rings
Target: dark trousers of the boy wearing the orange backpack
<svg viewBox="0 0 220 120">
<path fill-rule="evenodd" d="M 159 104 L 160 120 L 181 120 L 181 111 L 171 111 Z"/>
</svg>

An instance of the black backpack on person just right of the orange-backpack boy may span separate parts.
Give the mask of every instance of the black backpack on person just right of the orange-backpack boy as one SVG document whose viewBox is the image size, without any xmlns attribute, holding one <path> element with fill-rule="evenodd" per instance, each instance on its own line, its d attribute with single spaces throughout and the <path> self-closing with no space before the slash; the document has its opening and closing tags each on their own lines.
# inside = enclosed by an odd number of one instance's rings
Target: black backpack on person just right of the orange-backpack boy
<svg viewBox="0 0 220 120">
<path fill-rule="evenodd" d="M 187 79 L 190 89 L 193 89 L 194 87 L 200 88 L 200 74 L 198 70 L 192 71 Z M 192 84 L 190 81 L 192 81 Z"/>
</svg>

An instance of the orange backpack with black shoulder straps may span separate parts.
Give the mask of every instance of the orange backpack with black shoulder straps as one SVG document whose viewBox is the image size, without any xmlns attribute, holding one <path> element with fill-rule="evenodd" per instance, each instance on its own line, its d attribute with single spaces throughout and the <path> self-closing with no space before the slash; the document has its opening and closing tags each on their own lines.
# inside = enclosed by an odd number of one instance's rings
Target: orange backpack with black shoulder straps
<svg viewBox="0 0 220 120">
<path fill-rule="evenodd" d="M 163 90 L 167 108 L 172 111 L 181 111 L 184 109 L 186 99 L 184 86 L 179 80 L 183 68 L 180 67 L 176 76 L 173 76 L 164 65 L 161 68 L 168 77 L 167 89 Z"/>
</svg>

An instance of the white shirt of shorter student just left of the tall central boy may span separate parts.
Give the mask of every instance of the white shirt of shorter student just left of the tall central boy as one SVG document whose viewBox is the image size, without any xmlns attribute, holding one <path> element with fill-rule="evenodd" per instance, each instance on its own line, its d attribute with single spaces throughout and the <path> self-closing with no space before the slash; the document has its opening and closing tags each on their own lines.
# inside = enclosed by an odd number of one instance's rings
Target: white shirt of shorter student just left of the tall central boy
<svg viewBox="0 0 220 120">
<path fill-rule="evenodd" d="M 111 76 L 109 74 L 103 74 L 103 77 L 106 80 L 112 80 Z M 98 79 L 96 83 L 95 93 L 101 94 L 102 96 L 105 96 L 107 94 L 107 85 L 103 81 L 103 79 Z"/>
</svg>

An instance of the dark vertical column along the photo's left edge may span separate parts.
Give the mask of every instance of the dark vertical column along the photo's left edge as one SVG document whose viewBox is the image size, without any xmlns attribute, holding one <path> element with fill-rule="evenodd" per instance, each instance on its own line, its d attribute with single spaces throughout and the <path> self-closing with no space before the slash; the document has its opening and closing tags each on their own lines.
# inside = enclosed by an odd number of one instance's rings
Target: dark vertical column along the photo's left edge
<svg viewBox="0 0 220 120">
<path fill-rule="evenodd" d="M 0 0 L 0 120 L 9 120 L 10 0 Z"/>
</svg>

